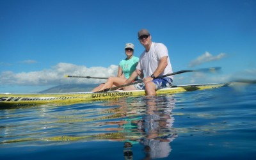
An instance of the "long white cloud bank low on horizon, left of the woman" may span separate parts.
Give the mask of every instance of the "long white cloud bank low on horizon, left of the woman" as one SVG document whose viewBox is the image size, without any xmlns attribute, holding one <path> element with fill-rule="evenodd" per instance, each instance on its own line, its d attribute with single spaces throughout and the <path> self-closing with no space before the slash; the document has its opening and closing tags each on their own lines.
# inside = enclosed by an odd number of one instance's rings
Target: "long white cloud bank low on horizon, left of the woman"
<svg viewBox="0 0 256 160">
<path fill-rule="evenodd" d="M 60 84 L 96 84 L 103 83 L 106 79 L 66 78 L 70 76 L 109 77 L 116 76 L 118 66 L 90 67 L 58 63 L 56 66 L 36 72 L 13 73 L 10 71 L 0 74 L 0 84 L 20 86 L 60 85 Z"/>
</svg>

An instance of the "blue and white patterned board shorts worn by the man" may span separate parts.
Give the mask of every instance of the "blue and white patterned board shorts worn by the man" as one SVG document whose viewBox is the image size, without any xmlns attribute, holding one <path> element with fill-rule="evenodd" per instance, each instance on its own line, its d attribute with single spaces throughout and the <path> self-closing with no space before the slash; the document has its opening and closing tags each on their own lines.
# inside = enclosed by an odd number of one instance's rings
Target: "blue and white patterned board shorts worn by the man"
<svg viewBox="0 0 256 160">
<path fill-rule="evenodd" d="M 160 90 L 162 88 L 169 88 L 172 86 L 172 78 L 163 77 L 163 78 L 156 78 L 152 81 L 156 85 L 156 90 Z M 134 84 L 136 90 L 145 90 L 144 83 Z"/>
</svg>

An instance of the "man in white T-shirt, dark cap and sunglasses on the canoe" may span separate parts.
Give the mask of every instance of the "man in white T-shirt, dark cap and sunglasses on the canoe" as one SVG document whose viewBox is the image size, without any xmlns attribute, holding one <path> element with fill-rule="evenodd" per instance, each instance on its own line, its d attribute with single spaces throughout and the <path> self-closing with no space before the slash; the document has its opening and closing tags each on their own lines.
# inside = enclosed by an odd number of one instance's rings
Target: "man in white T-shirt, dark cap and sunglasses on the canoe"
<svg viewBox="0 0 256 160">
<path fill-rule="evenodd" d="M 140 56 L 136 70 L 125 84 L 131 83 L 137 76 L 143 77 L 143 73 L 145 77 L 143 83 L 126 86 L 124 90 L 145 90 L 147 95 L 156 95 L 156 90 L 172 86 L 173 76 L 157 78 L 172 73 L 168 50 L 164 44 L 152 42 L 151 38 L 147 29 L 138 32 L 138 39 L 145 51 Z"/>
</svg>

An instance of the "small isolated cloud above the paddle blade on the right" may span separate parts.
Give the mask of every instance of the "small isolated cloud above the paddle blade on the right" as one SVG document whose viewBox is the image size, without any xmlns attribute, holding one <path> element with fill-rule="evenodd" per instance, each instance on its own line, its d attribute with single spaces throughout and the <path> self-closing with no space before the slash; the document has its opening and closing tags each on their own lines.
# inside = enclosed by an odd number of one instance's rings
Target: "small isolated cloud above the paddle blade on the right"
<svg viewBox="0 0 256 160">
<path fill-rule="evenodd" d="M 216 61 L 221 60 L 221 58 L 224 58 L 226 56 L 225 53 L 220 53 L 217 56 L 212 56 L 211 53 L 205 52 L 202 56 L 199 56 L 196 58 L 196 60 L 193 60 L 189 63 L 189 67 L 195 67 L 197 65 L 200 65 L 202 63 L 208 62 L 208 61 Z"/>
</svg>

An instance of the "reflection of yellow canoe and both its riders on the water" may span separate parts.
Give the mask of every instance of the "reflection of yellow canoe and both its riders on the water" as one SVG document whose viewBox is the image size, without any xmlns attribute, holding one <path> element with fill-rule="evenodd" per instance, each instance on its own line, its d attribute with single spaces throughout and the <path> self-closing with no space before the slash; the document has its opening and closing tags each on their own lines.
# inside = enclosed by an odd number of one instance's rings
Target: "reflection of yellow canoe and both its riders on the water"
<svg viewBox="0 0 256 160">
<path fill-rule="evenodd" d="M 174 106 L 175 99 L 168 95 L 71 106 L 3 109 L 0 145 L 120 141 L 124 143 L 126 159 L 133 159 L 134 145 L 143 146 L 145 159 L 167 157 L 172 150 L 170 142 L 177 137 L 172 127 Z M 17 122 L 19 125 L 15 125 Z"/>
</svg>

